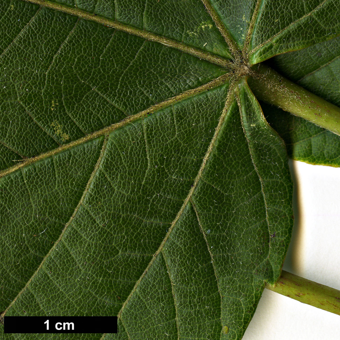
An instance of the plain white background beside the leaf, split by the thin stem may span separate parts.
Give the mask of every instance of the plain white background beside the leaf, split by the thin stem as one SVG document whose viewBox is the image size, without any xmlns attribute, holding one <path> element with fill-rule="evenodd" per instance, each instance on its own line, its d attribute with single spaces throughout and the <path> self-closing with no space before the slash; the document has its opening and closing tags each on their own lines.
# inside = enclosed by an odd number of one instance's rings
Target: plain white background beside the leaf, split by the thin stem
<svg viewBox="0 0 340 340">
<path fill-rule="evenodd" d="M 340 290 L 340 168 L 290 160 L 295 224 L 283 269 Z M 242 340 L 339 340 L 340 316 L 265 289 Z"/>
</svg>

